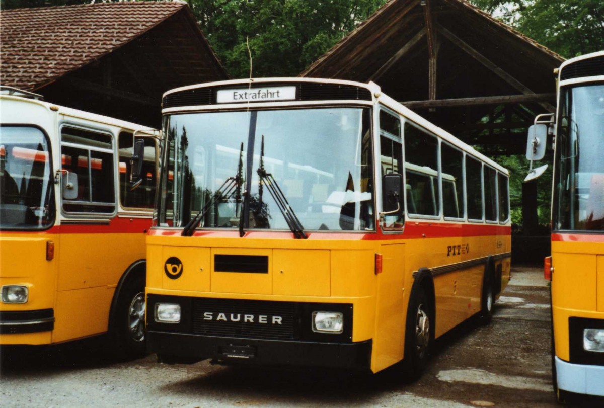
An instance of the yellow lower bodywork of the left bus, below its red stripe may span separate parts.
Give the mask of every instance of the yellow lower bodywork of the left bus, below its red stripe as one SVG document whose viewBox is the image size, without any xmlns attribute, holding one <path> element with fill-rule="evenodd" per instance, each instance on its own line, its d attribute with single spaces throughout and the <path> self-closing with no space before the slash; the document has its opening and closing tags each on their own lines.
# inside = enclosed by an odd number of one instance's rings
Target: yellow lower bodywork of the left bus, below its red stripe
<svg viewBox="0 0 604 408">
<path fill-rule="evenodd" d="M 42 345 L 105 333 L 115 288 L 144 259 L 142 233 L 38 232 L 0 234 L 0 284 L 25 285 L 28 302 L 0 303 L 0 311 L 54 310 L 54 330 L 0 334 L 2 345 Z M 54 259 L 46 259 L 47 242 Z"/>
</svg>

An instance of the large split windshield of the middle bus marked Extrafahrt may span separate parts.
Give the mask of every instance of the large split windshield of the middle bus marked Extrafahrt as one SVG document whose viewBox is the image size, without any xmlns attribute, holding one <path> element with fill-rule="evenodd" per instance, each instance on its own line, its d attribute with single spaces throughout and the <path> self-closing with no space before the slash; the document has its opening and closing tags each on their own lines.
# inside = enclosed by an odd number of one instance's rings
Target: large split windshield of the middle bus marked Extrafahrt
<svg viewBox="0 0 604 408">
<path fill-rule="evenodd" d="M 300 229 L 373 229 L 369 118 L 359 107 L 169 116 L 159 225 L 201 211 L 201 228 L 294 231 L 284 197 Z"/>
</svg>

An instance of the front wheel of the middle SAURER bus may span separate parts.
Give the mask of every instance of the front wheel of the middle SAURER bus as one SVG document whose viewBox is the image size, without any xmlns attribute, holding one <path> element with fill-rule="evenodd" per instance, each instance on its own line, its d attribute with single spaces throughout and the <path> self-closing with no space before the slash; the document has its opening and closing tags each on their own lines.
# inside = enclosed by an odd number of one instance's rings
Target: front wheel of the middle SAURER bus
<svg viewBox="0 0 604 408">
<path fill-rule="evenodd" d="M 421 377 L 434 343 L 434 313 L 424 288 L 411 295 L 405 323 L 405 357 L 401 368 L 408 381 Z"/>
</svg>

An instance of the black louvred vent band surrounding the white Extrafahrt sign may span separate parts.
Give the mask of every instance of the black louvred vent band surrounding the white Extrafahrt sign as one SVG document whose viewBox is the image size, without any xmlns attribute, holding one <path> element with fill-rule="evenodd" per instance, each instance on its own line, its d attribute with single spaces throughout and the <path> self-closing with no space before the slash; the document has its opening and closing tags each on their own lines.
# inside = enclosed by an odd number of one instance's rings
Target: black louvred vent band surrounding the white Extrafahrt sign
<svg viewBox="0 0 604 408">
<path fill-rule="evenodd" d="M 361 86 L 350 84 L 320 83 L 320 82 L 296 82 L 296 83 L 262 83 L 252 85 L 254 88 L 265 88 L 267 86 L 295 86 L 296 100 L 298 101 L 335 101 L 335 100 L 359 100 L 370 101 L 371 91 Z M 210 88 L 187 89 L 185 91 L 173 92 L 165 95 L 162 107 L 199 106 L 216 103 L 216 91 L 218 89 L 245 88 L 242 84 L 230 86 L 213 86 Z M 244 102 L 246 103 L 246 102 Z"/>
</svg>

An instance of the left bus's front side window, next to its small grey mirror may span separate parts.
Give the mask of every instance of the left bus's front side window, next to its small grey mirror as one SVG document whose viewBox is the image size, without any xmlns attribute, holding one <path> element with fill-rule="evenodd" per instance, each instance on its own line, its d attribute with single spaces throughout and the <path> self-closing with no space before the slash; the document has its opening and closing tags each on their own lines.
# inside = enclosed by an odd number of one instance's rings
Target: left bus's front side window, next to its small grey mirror
<svg viewBox="0 0 604 408">
<path fill-rule="evenodd" d="M 112 214 L 115 211 L 114 153 L 111 135 L 63 127 L 62 177 L 76 174 L 77 192 L 63 197 L 65 212 Z M 71 197 L 74 197 L 73 199 Z"/>
</svg>

